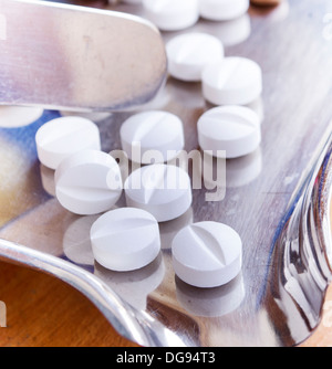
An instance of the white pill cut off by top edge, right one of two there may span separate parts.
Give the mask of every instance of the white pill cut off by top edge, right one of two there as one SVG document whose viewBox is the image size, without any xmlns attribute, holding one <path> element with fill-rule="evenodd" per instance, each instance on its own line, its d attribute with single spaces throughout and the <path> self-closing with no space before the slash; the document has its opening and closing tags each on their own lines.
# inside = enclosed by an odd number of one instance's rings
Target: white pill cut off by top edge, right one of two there
<svg viewBox="0 0 332 369">
<path fill-rule="evenodd" d="M 250 0 L 199 0 L 199 13 L 211 21 L 228 21 L 243 15 Z"/>
</svg>

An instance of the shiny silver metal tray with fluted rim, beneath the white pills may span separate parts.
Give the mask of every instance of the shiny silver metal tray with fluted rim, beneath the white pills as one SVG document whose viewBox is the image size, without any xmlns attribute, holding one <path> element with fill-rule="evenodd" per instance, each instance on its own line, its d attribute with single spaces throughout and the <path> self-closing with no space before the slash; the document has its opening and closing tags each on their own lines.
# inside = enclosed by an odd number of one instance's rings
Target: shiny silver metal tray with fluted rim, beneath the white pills
<svg viewBox="0 0 332 369">
<path fill-rule="evenodd" d="M 107 8 L 143 14 L 139 6 Z M 54 199 L 53 173 L 39 165 L 34 134 L 59 112 L 45 110 L 29 127 L 1 128 L 1 257 L 74 285 L 121 334 L 144 346 L 293 346 L 305 340 L 319 324 L 331 281 L 330 13 L 329 1 L 290 0 L 278 8 L 251 7 L 235 22 L 200 20 L 186 31 L 216 34 L 227 55 L 262 66 L 263 94 L 252 105 L 262 117 L 262 144 L 253 155 L 227 161 L 220 201 L 206 201 L 211 190 L 194 190 L 191 209 L 160 225 L 163 251 L 141 271 L 120 274 L 97 265 L 89 241 L 95 217 L 70 214 Z M 174 34 L 163 36 L 167 41 Z M 168 78 L 144 108 L 152 107 L 177 114 L 185 124 L 186 150 L 198 149 L 196 123 L 211 107 L 200 84 Z M 121 148 L 118 129 L 135 112 L 94 116 L 103 150 Z M 123 204 L 122 198 L 117 205 Z M 225 287 L 198 289 L 174 275 L 170 244 L 183 226 L 207 220 L 239 232 L 243 268 Z"/>
</svg>

